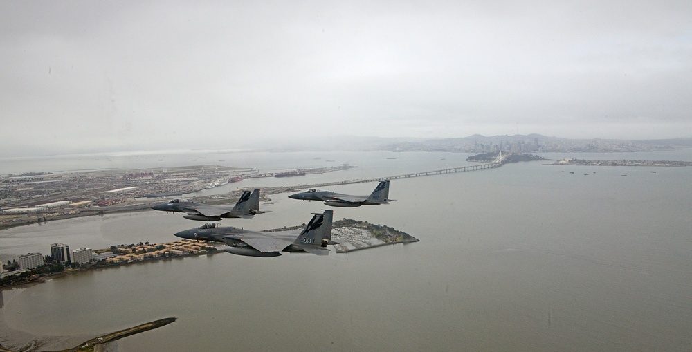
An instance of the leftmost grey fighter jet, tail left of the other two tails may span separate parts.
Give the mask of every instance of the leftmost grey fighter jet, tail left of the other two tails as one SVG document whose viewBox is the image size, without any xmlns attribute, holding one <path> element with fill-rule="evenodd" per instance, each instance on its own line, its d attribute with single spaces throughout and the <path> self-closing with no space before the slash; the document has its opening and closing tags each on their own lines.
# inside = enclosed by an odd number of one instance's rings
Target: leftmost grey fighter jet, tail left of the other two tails
<svg viewBox="0 0 692 352">
<path fill-rule="evenodd" d="M 185 199 L 174 199 L 168 203 L 154 205 L 154 210 L 162 212 L 188 213 L 185 219 L 199 221 L 219 221 L 221 218 L 251 218 L 260 212 L 260 189 L 243 192 L 233 208 L 219 205 L 199 204 Z"/>
</svg>

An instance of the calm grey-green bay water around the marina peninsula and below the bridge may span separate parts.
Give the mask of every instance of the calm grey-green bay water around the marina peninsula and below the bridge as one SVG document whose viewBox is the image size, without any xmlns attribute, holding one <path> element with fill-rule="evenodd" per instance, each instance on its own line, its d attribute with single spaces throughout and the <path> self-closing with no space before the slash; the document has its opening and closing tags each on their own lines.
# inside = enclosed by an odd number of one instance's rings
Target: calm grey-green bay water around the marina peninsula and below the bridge
<svg viewBox="0 0 692 352">
<path fill-rule="evenodd" d="M 690 160 L 675 153 L 573 157 Z M 319 177 L 457 166 L 467 154 L 388 156 L 345 156 L 360 158 L 358 168 Z M 540 163 L 395 180 L 394 203 L 333 208 L 335 217 L 391 225 L 419 243 L 329 257 L 223 253 L 84 272 L 3 291 L 0 339 L 17 346 L 39 336 L 57 349 L 178 317 L 111 350 L 689 351 L 691 184 L 689 168 Z M 267 214 L 224 223 L 276 228 L 325 207 L 286 196 L 273 195 Z M 0 232 L 0 253 L 47 252 L 55 241 L 75 248 L 172 241 L 199 224 L 150 211 L 31 225 Z"/>
</svg>

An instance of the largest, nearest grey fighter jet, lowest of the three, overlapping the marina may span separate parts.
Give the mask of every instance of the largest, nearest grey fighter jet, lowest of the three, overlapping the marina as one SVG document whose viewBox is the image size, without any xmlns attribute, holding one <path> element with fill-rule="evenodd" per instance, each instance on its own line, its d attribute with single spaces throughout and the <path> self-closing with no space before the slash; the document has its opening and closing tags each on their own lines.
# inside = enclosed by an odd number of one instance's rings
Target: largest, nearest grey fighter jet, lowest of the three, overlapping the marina
<svg viewBox="0 0 692 352">
<path fill-rule="evenodd" d="M 223 242 L 230 246 L 224 251 L 249 257 L 278 257 L 280 252 L 327 255 L 329 250 L 325 247 L 336 244 L 331 241 L 331 218 L 334 213 L 325 210 L 324 213 L 312 214 L 312 220 L 302 231 L 256 232 L 233 226 L 225 227 L 220 223 L 206 223 L 175 235 L 183 239 Z"/>
</svg>

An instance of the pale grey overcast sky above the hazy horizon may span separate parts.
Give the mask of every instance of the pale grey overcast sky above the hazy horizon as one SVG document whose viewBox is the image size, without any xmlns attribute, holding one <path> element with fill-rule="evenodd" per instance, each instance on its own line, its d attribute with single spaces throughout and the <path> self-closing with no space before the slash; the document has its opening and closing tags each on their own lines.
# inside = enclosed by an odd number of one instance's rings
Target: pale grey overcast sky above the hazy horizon
<svg viewBox="0 0 692 352">
<path fill-rule="evenodd" d="M 692 1 L 0 1 L 0 156 L 692 136 Z"/>
</svg>

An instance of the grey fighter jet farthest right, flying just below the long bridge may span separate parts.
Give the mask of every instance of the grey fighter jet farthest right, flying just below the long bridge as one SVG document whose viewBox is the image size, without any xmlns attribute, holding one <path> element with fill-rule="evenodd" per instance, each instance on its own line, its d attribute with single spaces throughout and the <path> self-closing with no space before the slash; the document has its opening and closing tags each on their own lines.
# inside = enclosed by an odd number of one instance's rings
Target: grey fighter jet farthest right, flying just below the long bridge
<svg viewBox="0 0 692 352">
<path fill-rule="evenodd" d="M 324 201 L 326 205 L 332 207 L 360 207 L 361 205 L 388 204 L 393 201 L 389 199 L 389 180 L 380 181 L 370 196 L 349 196 L 348 194 L 338 194 L 329 191 L 318 191 L 310 189 L 307 192 L 291 194 L 289 198 L 302 199 L 303 201 Z"/>
</svg>

